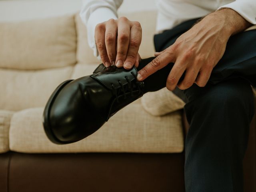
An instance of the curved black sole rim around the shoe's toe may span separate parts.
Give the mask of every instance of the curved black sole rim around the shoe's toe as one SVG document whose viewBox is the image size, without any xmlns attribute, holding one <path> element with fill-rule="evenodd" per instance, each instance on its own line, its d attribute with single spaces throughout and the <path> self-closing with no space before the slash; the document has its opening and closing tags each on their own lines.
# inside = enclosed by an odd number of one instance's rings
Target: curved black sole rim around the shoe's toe
<svg viewBox="0 0 256 192">
<path fill-rule="evenodd" d="M 47 137 L 50 139 L 51 142 L 55 143 L 55 144 L 68 144 L 71 142 L 64 142 L 59 140 L 53 133 L 52 128 L 50 126 L 50 110 L 52 107 L 52 104 L 56 98 L 56 96 L 58 95 L 58 93 L 60 92 L 60 90 L 62 90 L 62 88 L 64 86 L 66 86 L 66 84 L 70 83 L 73 80 L 66 80 L 64 82 L 62 82 L 52 93 L 52 95 L 50 96 L 45 108 L 44 108 L 44 113 L 42 116 L 42 123 L 44 126 L 44 132 L 46 133 Z"/>
</svg>

